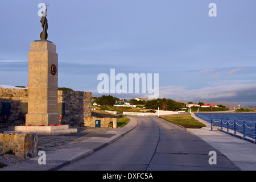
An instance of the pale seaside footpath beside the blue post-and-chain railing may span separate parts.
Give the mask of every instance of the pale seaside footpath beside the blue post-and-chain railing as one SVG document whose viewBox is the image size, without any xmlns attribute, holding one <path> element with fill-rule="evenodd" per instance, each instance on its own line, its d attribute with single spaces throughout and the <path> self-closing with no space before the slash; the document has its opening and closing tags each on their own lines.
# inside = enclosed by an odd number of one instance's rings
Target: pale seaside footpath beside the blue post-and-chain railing
<svg viewBox="0 0 256 182">
<path fill-rule="evenodd" d="M 256 143 L 255 139 L 243 137 L 243 134 L 234 134 L 233 130 L 221 130 L 221 127 L 213 126 L 203 119 L 196 117 L 194 113 L 191 116 L 206 126 L 201 129 L 187 129 L 192 134 L 199 136 L 205 142 L 220 151 L 241 171 L 256 170 Z M 217 159 L 218 162 L 218 159 Z"/>
</svg>

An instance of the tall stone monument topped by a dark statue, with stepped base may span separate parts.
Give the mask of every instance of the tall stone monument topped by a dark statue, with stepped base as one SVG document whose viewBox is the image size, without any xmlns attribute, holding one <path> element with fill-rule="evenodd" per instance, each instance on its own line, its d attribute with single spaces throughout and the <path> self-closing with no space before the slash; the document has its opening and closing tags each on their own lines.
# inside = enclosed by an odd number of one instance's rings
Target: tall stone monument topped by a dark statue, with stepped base
<svg viewBox="0 0 256 182">
<path fill-rule="evenodd" d="M 77 129 L 69 129 L 68 125 L 59 125 L 60 115 L 57 112 L 58 55 L 55 44 L 47 40 L 47 7 L 48 5 L 40 20 L 43 27 L 40 34 L 41 40 L 32 42 L 28 52 L 26 126 L 9 127 L 9 130 L 33 131 L 43 135 L 76 133 Z"/>
</svg>

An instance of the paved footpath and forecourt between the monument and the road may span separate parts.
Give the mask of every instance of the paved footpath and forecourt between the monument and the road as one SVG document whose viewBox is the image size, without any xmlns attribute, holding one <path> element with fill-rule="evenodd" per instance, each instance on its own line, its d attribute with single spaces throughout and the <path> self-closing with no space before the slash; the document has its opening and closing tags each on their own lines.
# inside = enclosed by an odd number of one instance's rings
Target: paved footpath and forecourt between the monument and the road
<svg viewBox="0 0 256 182">
<path fill-rule="evenodd" d="M 75 162 L 93 152 L 108 146 L 138 125 L 137 119 L 117 129 L 85 127 L 78 133 L 38 136 L 38 152 L 46 152 L 46 164 L 39 164 L 41 155 L 25 160 L 23 163 L 0 168 L 0 171 L 54 171 Z M 40 159 L 39 159 L 40 158 Z"/>
</svg>

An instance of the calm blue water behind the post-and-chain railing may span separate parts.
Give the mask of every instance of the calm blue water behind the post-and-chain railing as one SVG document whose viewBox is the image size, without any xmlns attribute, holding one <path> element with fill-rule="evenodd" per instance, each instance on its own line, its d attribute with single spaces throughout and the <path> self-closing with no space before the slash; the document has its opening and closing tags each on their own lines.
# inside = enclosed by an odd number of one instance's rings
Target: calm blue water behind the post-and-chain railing
<svg viewBox="0 0 256 182">
<path fill-rule="evenodd" d="M 226 123 L 228 119 L 229 123 L 232 124 L 232 126 L 229 125 L 229 129 L 231 130 L 234 130 L 233 123 L 235 120 L 238 125 L 242 125 L 243 121 L 245 121 L 245 124 L 248 127 L 253 127 L 253 129 L 245 127 L 245 135 L 247 137 L 255 138 L 256 113 L 195 113 L 195 115 L 209 123 L 210 119 L 213 119 L 213 121 L 220 121 L 220 119 L 222 119 L 224 123 Z M 222 126 L 226 128 L 226 124 L 224 123 Z M 213 122 L 213 125 L 221 126 L 221 122 Z M 236 127 L 237 132 L 243 134 L 243 126 Z"/>
</svg>

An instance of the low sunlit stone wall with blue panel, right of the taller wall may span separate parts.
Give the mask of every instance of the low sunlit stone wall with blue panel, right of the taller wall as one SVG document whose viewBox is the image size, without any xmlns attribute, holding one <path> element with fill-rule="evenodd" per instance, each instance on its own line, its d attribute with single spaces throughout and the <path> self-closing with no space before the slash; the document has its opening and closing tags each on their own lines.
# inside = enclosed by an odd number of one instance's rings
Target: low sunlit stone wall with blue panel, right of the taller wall
<svg viewBox="0 0 256 182">
<path fill-rule="evenodd" d="M 113 122 L 113 128 L 117 128 L 117 118 L 84 118 L 84 126 L 95 127 L 96 120 L 100 120 L 100 127 L 110 127 L 110 122 Z"/>
</svg>

